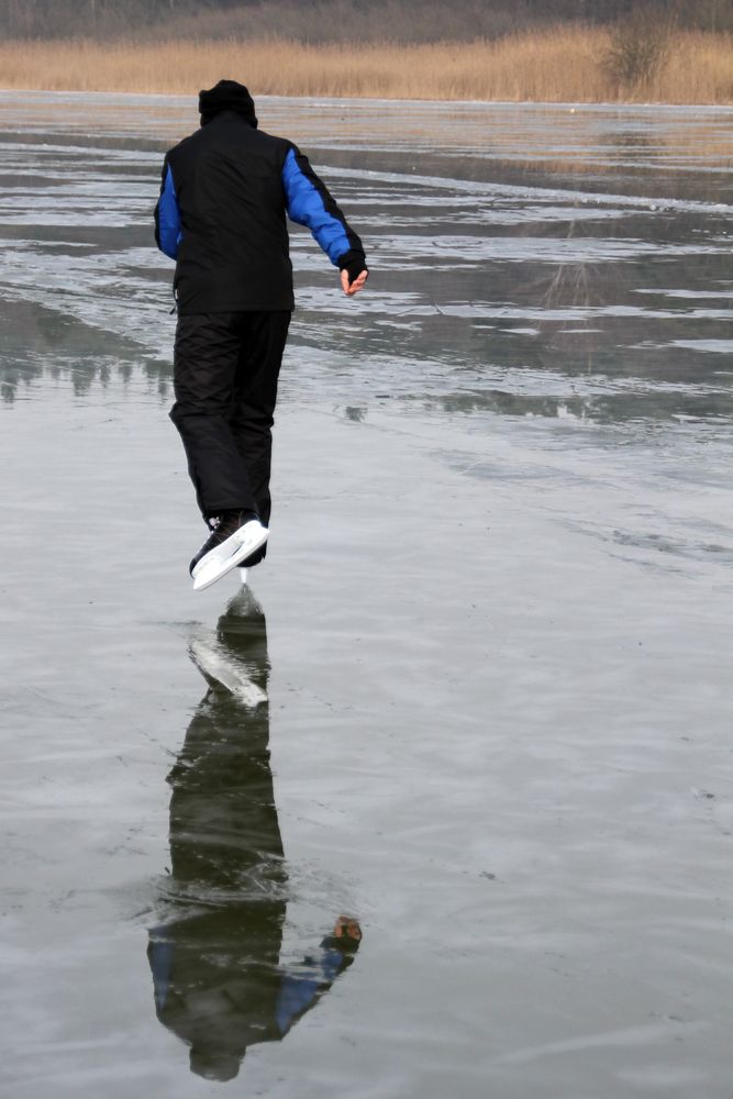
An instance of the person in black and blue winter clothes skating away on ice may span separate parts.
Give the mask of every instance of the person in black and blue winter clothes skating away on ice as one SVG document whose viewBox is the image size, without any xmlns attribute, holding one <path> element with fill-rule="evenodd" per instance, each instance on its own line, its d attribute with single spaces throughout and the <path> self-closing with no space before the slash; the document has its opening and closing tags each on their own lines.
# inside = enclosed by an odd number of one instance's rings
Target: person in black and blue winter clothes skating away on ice
<svg viewBox="0 0 733 1099">
<path fill-rule="evenodd" d="M 209 537 L 196 588 L 265 555 L 273 414 L 293 308 L 286 213 L 341 269 L 349 297 L 367 279 L 362 242 L 289 141 L 257 130 L 247 89 L 199 96 L 201 129 L 169 149 L 155 238 L 177 260 L 174 356 L 180 432 Z"/>
</svg>

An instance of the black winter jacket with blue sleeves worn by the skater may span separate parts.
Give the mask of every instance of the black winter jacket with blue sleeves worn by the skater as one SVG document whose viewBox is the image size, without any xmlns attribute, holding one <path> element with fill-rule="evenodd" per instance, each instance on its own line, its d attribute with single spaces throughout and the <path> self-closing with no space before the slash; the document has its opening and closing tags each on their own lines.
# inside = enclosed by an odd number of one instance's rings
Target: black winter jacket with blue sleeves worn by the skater
<svg viewBox="0 0 733 1099">
<path fill-rule="evenodd" d="M 286 213 L 352 278 L 366 267 L 360 240 L 292 142 L 226 110 L 169 149 L 155 241 L 177 260 L 178 312 L 292 309 Z"/>
</svg>

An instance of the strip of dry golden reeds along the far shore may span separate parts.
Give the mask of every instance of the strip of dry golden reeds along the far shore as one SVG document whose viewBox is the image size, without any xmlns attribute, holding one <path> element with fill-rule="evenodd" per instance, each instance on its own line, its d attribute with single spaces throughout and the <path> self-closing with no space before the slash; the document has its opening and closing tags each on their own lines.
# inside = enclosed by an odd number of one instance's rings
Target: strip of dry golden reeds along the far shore
<svg viewBox="0 0 733 1099">
<path fill-rule="evenodd" d="M 288 41 L 0 43 L 0 87 L 191 95 L 221 77 L 255 95 L 389 99 L 733 102 L 731 35 L 680 32 L 649 81 L 619 86 L 602 30 L 558 27 L 497 42 L 415 46 Z"/>
</svg>

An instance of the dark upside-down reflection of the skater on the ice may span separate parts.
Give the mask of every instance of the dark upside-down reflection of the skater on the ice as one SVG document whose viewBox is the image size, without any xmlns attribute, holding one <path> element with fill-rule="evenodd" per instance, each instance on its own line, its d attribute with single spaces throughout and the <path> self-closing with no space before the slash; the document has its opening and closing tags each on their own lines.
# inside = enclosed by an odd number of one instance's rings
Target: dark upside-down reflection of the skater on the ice
<svg viewBox="0 0 733 1099">
<path fill-rule="evenodd" d="M 247 1046 L 279 1041 L 352 962 L 341 917 L 299 965 L 280 966 L 287 874 L 269 766 L 265 615 L 243 588 L 218 640 L 191 654 L 210 684 L 168 776 L 168 919 L 149 935 L 160 1022 L 190 1046 L 191 1070 L 236 1076 Z"/>
</svg>

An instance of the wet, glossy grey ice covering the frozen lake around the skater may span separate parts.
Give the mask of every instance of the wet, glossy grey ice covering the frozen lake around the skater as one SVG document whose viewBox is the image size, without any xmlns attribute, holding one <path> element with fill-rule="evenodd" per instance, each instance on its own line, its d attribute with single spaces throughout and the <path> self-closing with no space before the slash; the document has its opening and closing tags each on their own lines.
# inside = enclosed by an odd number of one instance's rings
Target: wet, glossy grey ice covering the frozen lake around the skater
<svg viewBox="0 0 733 1099">
<path fill-rule="evenodd" d="M 266 639 L 185 574 L 192 104 L 0 96 L 9 1094 L 730 1097 L 733 112 L 258 106 L 373 259 L 293 234 Z"/>
</svg>

